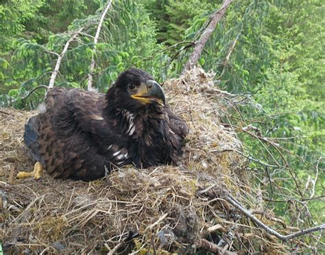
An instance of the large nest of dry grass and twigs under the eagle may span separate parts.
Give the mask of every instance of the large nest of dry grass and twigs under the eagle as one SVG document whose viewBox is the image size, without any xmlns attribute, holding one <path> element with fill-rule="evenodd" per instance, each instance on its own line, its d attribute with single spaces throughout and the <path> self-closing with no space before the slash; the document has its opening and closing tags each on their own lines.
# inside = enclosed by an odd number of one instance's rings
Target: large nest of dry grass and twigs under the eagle
<svg viewBox="0 0 325 255">
<path fill-rule="evenodd" d="M 211 82 L 193 69 L 165 82 L 167 101 L 190 133 L 178 166 L 124 167 L 93 182 L 16 180 L 32 171 L 23 126 L 36 112 L 0 112 L 0 202 L 3 250 L 25 253 L 167 252 L 285 253 L 286 246 L 256 228 L 224 199 L 231 193 L 258 209 L 241 142 L 222 125 L 228 106 Z M 262 219 L 267 221 L 267 219 Z M 276 223 L 272 223 L 276 224 Z M 278 226 L 276 226 L 278 227 Z M 217 245 L 213 250 L 208 245 Z"/>
</svg>

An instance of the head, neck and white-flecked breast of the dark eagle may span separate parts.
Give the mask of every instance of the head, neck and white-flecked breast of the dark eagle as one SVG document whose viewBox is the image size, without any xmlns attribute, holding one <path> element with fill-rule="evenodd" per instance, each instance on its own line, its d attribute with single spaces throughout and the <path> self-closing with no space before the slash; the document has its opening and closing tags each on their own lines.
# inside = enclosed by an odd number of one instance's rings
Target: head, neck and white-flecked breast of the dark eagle
<svg viewBox="0 0 325 255">
<path fill-rule="evenodd" d="M 163 88 L 152 75 L 141 69 L 121 73 L 106 93 L 104 118 L 109 132 L 119 135 L 113 156 L 121 157 L 124 149 L 137 167 L 177 161 L 187 126 L 165 106 Z"/>
</svg>

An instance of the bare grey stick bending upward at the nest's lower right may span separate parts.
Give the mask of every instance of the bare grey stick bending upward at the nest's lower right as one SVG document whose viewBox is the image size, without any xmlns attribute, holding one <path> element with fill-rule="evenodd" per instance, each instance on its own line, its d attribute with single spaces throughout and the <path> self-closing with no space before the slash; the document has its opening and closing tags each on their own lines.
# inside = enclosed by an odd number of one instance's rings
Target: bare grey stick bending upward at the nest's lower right
<svg viewBox="0 0 325 255">
<path fill-rule="evenodd" d="M 325 224 L 322 224 L 320 226 L 315 226 L 313 228 L 307 228 L 306 230 L 300 230 L 300 231 L 295 232 L 293 234 L 287 234 L 287 235 L 284 236 L 284 235 L 279 234 L 278 232 L 276 232 L 276 230 L 273 230 L 272 228 L 269 228 L 262 221 L 258 220 L 256 217 L 254 217 L 254 215 L 252 215 L 252 213 L 250 213 L 249 210 L 245 209 L 237 201 L 237 199 L 235 199 L 234 197 L 232 197 L 232 195 L 230 195 L 230 193 L 228 193 L 228 192 L 226 192 L 226 200 L 230 204 L 232 204 L 232 206 L 234 206 L 239 211 L 241 211 L 241 213 L 243 213 L 243 215 L 247 216 L 252 221 L 254 221 L 254 223 L 256 223 L 257 226 L 263 228 L 263 230 L 265 230 L 267 233 L 276 236 L 278 239 L 280 239 L 280 240 L 282 240 L 284 242 L 290 241 L 291 239 L 294 239 L 294 238 L 296 238 L 298 236 L 302 236 L 302 235 L 305 235 L 305 234 L 309 234 L 311 232 L 316 232 L 316 231 L 320 231 L 320 230 L 324 230 L 325 229 Z"/>
</svg>

